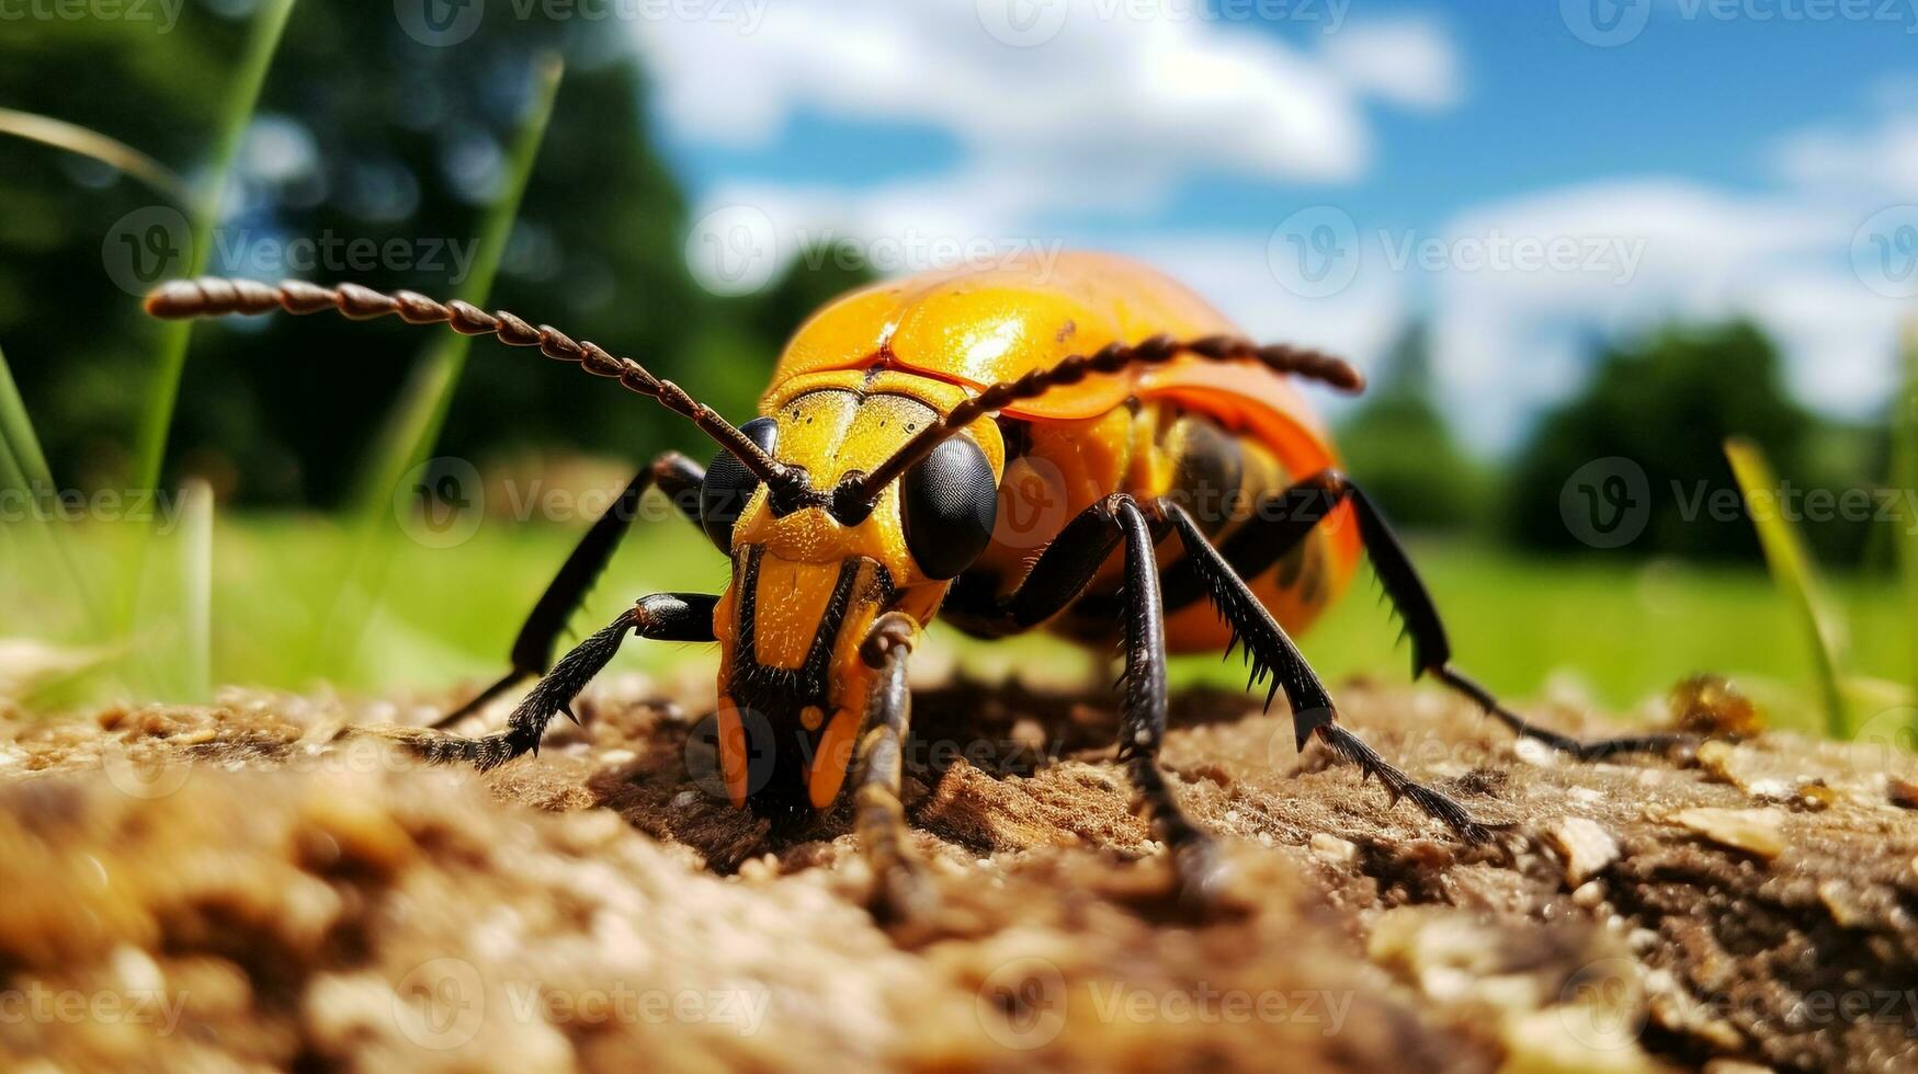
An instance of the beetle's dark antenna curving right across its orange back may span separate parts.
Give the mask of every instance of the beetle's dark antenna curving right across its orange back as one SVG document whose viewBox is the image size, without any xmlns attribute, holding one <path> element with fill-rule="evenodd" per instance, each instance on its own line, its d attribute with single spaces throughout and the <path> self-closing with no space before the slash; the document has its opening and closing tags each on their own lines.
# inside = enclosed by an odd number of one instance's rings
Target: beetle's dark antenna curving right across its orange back
<svg viewBox="0 0 1918 1074">
<path fill-rule="evenodd" d="M 865 474 L 848 474 L 832 489 L 832 514 L 844 524 L 863 520 L 873 512 L 886 485 L 905 474 L 915 462 L 932 453 L 949 435 L 971 426 L 984 414 L 1003 410 L 1013 403 L 1045 395 L 1053 387 L 1078 384 L 1088 376 L 1116 374 L 1132 364 L 1158 364 L 1178 355 L 1197 355 L 1214 362 L 1256 361 L 1272 372 L 1300 376 L 1329 384 L 1339 391 L 1364 391 L 1366 378 L 1345 359 L 1293 347 L 1287 343 L 1258 345 L 1237 336 L 1206 336 L 1203 339 L 1176 341 L 1170 336 L 1153 336 L 1141 343 L 1109 343 L 1091 355 L 1072 355 L 1059 364 L 1032 370 L 1018 380 L 1003 380 L 986 387 L 978 395 L 959 403 L 946 418 L 919 430 L 905 447 Z"/>
</svg>

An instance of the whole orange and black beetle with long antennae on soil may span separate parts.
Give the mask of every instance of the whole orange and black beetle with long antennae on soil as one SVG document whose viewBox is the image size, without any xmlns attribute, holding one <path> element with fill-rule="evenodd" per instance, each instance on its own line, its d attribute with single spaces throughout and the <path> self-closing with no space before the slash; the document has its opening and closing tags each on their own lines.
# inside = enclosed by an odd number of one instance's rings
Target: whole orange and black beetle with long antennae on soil
<svg viewBox="0 0 1918 1074">
<path fill-rule="evenodd" d="M 1220 884 L 1212 836 L 1158 767 L 1166 656 L 1243 648 L 1251 685 L 1465 842 L 1492 827 L 1415 782 L 1343 727 L 1291 635 L 1350 583 L 1364 554 L 1431 675 L 1519 736 L 1577 758 L 1663 750 L 1674 735 L 1582 742 L 1500 704 L 1452 664 L 1438 610 L 1377 504 L 1339 470 L 1298 387 L 1360 391 L 1345 361 L 1256 345 L 1193 292 L 1135 261 L 1074 253 L 990 270 L 928 272 L 855 290 L 786 343 L 760 414 L 733 426 L 633 359 L 510 313 L 355 284 L 182 280 L 148 297 L 163 318 L 338 311 L 449 324 L 577 362 L 689 418 L 708 466 L 666 453 L 600 516 L 533 606 L 512 669 L 433 727 L 395 729 L 437 763 L 497 767 L 537 752 L 549 721 L 631 637 L 719 642 L 717 746 L 725 794 L 788 821 L 854 802 L 875 865 L 875 907 L 909 917 L 930 888 L 900 802 L 907 658 L 934 618 L 984 637 L 1051 629 L 1118 641 L 1118 761 L 1180 894 Z M 999 510 L 1009 481 L 1061 504 L 1049 520 Z M 1034 485 L 1036 483 L 1036 485 Z M 556 664 L 556 641 L 612 556 L 639 499 L 660 489 L 731 558 L 721 595 L 639 598 Z M 1043 514 L 1043 512 L 1041 512 Z M 535 679 L 503 731 L 451 725 Z M 848 788 L 852 775 L 852 788 Z"/>
</svg>

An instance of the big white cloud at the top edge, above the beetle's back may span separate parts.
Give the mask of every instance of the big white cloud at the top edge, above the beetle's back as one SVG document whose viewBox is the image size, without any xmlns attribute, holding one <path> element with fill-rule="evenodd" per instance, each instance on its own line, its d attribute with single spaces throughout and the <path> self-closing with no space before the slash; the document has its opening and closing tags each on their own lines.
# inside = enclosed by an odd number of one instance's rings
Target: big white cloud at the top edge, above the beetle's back
<svg viewBox="0 0 1918 1074">
<path fill-rule="evenodd" d="M 769 8 L 752 33 L 723 19 L 637 27 L 683 138 L 765 146 L 802 111 L 926 125 L 963 146 L 969 169 L 1049 207 L 1203 171 L 1350 180 L 1371 157 L 1364 98 L 1460 96 L 1450 44 L 1425 23 L 1343 27 L 1308 54 L 1212 19 L 1134 17 L 1135 2 L 1059 0 L 1057 33 L 1020 48 L 990 33 L 995 2 L 807 0 Z"/>
</svg>

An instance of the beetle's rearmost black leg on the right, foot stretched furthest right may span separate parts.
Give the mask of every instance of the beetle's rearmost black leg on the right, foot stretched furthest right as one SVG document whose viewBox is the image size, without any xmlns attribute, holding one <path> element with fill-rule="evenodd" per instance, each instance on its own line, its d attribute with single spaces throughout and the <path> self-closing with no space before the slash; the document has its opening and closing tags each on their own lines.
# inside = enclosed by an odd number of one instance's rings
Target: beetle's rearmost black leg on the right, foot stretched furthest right
<svg viewBox="0 0 1918 1074">
<path fill-rule="evenodd" d="M 1554 750 L 1561 750 L 1579 759 L 1598 759 L 1611 754 L 1663 752 L 1669 746 L 1686 742 L 1684 735 L 1621 735 L 1615 738 L 1594 738 L 1590 742 L 1559 735 L 1538 727 L 1519 713 L 1508 710 L 1485 687 L 1473 683 L 1465 673 L 1452 667 L 1452 642 L 1446 639 L 1444 623 L 1438 619 L 1438 606 L 1425 589 L 1425 581 L 1414 570 L 1406 547 L 1387 525 L 1385 516 L 1371 502 L 1364 489 L 1337 470 L 1323 470 L 1297 485 L 1262 501 L 1254 516 L 1239 527 L 1222 547 L 1241 577 L 1258 577 L 1277 564 L 1341 502 L 1352 504 L 1358 520 L 1358 539 L 1371 558 L 1371 568 L 1379 575 L 1387 600 L 1404 621 L 1412 639 L 1412 675 L 1431 675 L 1446 687 L 1477 702 L 1488 715 L 1509 727 L 1521 738 L 1536 738 Z M 1183 598 L 1199 585 L 1197 572 L 1180 562 L 1166 568 L 1168 602 Z"/>
</svg>

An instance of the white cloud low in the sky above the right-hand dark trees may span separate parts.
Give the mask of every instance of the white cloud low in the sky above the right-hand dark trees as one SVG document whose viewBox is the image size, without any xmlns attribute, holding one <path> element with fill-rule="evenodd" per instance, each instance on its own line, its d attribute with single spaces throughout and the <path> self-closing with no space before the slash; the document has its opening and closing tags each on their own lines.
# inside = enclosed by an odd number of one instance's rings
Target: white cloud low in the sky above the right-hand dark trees
<svg viewBox="0 0 1918 1074">
<path fill-rule="evenodd" d="M 1782 347 L 1797 393 L 1862 416 L 1893 382 L 1905 313 L 1849 268 L 1857 215 L 1799 194 L 1743 196 L 1676 180 L 1615 182 L 1483 205 L 1450 238 L 1504 232 L 1638 249 L 1628 278 L 1600 270 L 1435 276 L 1435 349 L 1469 433 L 1509 445 L 1538 405 L 1575 389 L 1592 336 L 1663 320 L 1749 316 Z"/>
</svg>

